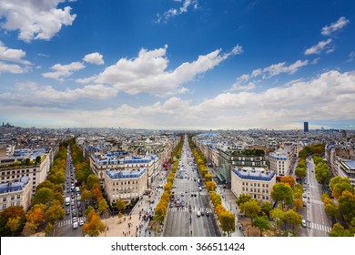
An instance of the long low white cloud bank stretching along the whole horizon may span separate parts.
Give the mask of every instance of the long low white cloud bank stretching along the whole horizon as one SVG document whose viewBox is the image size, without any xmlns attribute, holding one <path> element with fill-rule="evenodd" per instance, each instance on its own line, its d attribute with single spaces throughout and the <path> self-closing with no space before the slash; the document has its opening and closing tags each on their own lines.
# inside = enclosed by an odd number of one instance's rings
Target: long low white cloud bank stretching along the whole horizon
<svg viewBox="0 0 355 255">
<path fill-rule="evenodd" d="M 87 88 L 87 89 L 86 89 Z M 223 93 L 200 104 L 179 97 L 158 101 L 147 106 L 121 104 L 114 108 L 86 110 L 42 107 L 38 98 L 74 100 L 80 93 L 86 97 L 110 94 L 110 87 L 85 87 L 57 93 L 52 87 L 44 89 L 25 85 L 28 93 L 0 94 L 0 106 L 5 113 L 19 119 L 46 119 L 48 123 L 65 123 L 65 127 L 122 128 L 301 128 L 304 119 L 311 121 L 348 121 L 354 123 L 355 71 L 329 71 L 309 81 L 294 80 L 282 87 L 265 91 Z M 39 96 L 38 93 L 41 93 Z M 69 97 L 70 96 L 70 97 Z M 33 98 L 32 98 L 33 97 Z M 23 101 L 20 101 L 22 99 Z M 28 103 L 29 105 L 25 105 Z M 11 104 L 22 102 L 22 104 Z M 25 106 L 24 106 L 25 105 Z M 22 107 L 24 106 L 24 107 Z M 53 104 L 57 106 L 57 104 Z M 32 122 L 33 122 L 32 119 Z M 100 119 L 99 122 L 93 119 Z M 30 119 L 31 120 L 31 119 Z M 31 121 L 29 121 L 31 122 Z"/>
</svg>

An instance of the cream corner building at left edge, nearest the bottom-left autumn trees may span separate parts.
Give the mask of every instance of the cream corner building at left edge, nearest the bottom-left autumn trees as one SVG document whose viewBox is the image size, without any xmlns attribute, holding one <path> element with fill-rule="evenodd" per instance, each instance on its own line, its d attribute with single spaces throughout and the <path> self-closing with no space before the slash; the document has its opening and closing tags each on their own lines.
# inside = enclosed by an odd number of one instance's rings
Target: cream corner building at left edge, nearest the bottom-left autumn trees
<svg viewBox="0 0 355 255">
<path fill-rule="evenodd" d="M 12 206 L 22 206 L 25 211 L 31 205 L 31 183 L 28 177 L 0 184 L 0 211 Z"/>
</svg>

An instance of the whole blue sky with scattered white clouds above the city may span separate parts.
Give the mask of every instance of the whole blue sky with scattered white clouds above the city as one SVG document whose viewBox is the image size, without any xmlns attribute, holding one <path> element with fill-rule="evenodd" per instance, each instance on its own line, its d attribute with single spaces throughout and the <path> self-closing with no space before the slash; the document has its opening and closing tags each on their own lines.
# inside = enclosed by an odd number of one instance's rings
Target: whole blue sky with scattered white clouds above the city
<svg viewBox="0 0 355 255">
<path fill-rule="evenodd" d="M 355 2 L 2 0 L 0 121 L 355 128 Z"/>
</svg>

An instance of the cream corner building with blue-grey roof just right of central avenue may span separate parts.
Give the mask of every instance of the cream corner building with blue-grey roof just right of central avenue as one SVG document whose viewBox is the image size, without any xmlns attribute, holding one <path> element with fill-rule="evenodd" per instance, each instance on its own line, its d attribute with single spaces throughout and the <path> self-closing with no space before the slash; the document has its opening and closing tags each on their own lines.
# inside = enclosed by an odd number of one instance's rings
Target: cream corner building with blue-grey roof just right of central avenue
<svg viewBox="0 0 355 255">
<path fill-rule="evenodd" d="M 240 195 L 250 195 L 260 202 L 271 201 L 271 190 L 276 183 L 274 171 L 265 168 L 234 168 L 231 172 L 230 189 L 238 198 Z"/>
</svg>

